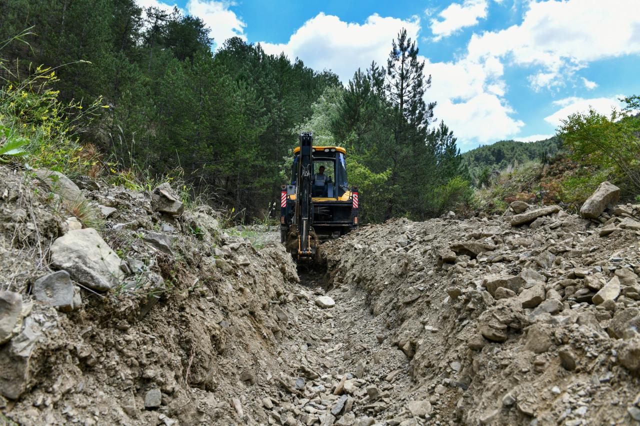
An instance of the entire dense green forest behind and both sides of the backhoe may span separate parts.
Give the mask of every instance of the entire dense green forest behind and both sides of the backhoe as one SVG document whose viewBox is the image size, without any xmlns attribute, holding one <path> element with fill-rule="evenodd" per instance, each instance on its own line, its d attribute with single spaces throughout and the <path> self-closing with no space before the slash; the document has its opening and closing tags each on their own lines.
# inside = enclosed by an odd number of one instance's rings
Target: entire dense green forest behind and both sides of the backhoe
<svg viewBox="0 0 640 426">
<path fill-rule="evenodd" d="M 343 84 L 240 38 L 213 51 L 202 20 L 133 0 L 7 0 L 0 13 L 0 119 L 22 129 L 36 166 L 116 184 L 179 175 L 193 196 L 251 219 L 269 214 L 311 130 L 348 150 L 365 221 L 438 216 L 470 197 L 405 31 L 387 63 Z"/>
</svg>

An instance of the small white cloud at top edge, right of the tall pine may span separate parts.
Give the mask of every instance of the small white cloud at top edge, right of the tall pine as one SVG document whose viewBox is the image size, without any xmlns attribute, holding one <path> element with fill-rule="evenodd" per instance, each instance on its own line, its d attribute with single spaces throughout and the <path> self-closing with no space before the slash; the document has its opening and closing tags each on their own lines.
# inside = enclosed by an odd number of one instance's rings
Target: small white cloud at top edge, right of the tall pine
<svg viewBox="0 0 640 426">
<path fill-rule="evenodd" d="M 438 14 L 442 20 L 431 19 L 431 32 L 437 41 L 456 31 L 474 26 L 478 19 L 486 18 L 487 0 L 465 0 L 463 4 L 451 3 Z"/>
</svg>

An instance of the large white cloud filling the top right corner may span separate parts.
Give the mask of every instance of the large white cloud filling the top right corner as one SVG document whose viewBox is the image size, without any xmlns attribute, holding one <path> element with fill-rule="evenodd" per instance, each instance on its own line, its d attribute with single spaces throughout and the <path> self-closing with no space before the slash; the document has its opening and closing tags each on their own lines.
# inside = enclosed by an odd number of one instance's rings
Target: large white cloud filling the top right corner
<svg viewBox="0 0 640 426">
<path fill-rule="evenodd" d="M 637 0 L 531 1 L 522 24 L 474 34 L 468 58 L 507 58 L 538 67 L 532 88 L 562 86 L 586 63 L 640 52 Z"/>
</svg>

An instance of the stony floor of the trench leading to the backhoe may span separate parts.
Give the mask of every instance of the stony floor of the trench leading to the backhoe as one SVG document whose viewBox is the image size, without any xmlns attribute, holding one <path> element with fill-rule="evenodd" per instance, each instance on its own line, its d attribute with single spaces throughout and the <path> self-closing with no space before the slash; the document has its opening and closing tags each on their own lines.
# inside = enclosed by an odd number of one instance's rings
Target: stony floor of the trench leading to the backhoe
<svg viewBox="0 0 640 426">
<path fill-rule="evenodd" d="M 282 390 L 261 401 L 269 423 L 427 422 L 430 404 L 411 397 L 408 358 L 391 345 L 387 326 L 371 314 L 364 290 L 355 283 L 326 288 L 318 272 L 300 271 L 300 276 L 298 293 L 282 310 L 288 324 L 279 354 L 283 372 L 276 378 Z M 439 422 L 432 418 L 430 423 Z"/>
</svg>

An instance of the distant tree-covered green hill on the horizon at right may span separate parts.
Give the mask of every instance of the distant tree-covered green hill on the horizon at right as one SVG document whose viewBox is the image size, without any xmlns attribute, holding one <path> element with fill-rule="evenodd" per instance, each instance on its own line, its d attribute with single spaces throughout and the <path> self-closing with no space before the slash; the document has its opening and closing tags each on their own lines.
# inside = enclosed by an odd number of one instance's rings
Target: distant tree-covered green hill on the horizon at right
<svg viewBox="0 0 640 426">
<path fill-rule="evenodd" d="M 484 145 L 462 154 L 472 175 L 485 167 L 491 170 L 504 169 L 509 164 L 522 164 L 539 160 L 543 155 L 555 155 L 560 149 L 556 136 L 537 142 L 499 141 L 493 145 Z"/>
</svg>

